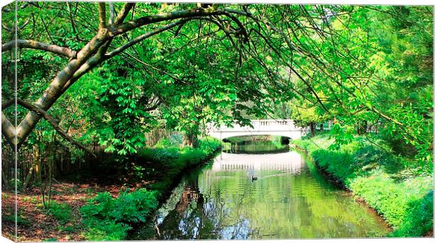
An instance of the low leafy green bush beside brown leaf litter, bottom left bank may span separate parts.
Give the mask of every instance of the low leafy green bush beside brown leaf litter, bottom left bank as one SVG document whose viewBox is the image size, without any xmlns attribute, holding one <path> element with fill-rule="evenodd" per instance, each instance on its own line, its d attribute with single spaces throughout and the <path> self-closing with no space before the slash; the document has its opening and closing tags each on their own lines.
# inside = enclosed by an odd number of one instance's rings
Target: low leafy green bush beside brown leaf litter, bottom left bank
<svg viewBox="0 0 438 243">
<path fill-rule="evenodd" d="M 88 227 L 87 240 L 120 240 L 131 229 L 129 224 L 145 222 L 158 206 L 155 191 L 138 189 L 112 198 L 108 192 L 97 194 L 82 206 L 83 223 Z"/>
</svg>

